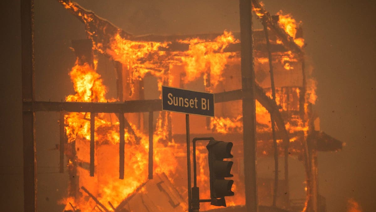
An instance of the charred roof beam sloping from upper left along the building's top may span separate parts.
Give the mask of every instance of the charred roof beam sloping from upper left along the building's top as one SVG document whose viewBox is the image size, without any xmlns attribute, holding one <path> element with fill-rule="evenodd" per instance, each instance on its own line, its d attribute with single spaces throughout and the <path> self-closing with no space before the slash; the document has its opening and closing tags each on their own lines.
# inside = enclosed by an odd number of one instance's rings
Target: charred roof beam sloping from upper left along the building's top
<svg viewBox="0 0 376 212">
<path fill-rule="evenodd" d="M 69 0 L 58 0 L 66 9 L 68 9 L 73 15 L 75 15 L 81 22 L 85 24 L 86 32 L 88 32 L 89 37 L 96 43 L 101 43 L 103 46 L 98 47 L 105 52 L 106 48 L 110 48 L 110 40 L 117 34 L 122 38 L 132 41 L 141 41 L 141 42 L 169 42 L 167 47 L 160 47 L 159 51 L 170 51 L 176 52 L 181 51 L 185 52 L 189 49 L 188 43 L 182 43 L 181 40 L 187 40 L 192 38 L 201 38 L 205 40 L 215 40 L 218 36 L 221 36 L 222 33 L 210 33 L 210 34 L 193 34 L 193 35 L 141 35 L 133 36 L 132 34 L 123 31 L 107 20 L 97 16 L 92 11 L 88 11 L 78 5 L 77 3 L 71 2 Z M 279 26 L 277 26 L 279 27 Z M 283 31 L 283 29 L 280 29 Z M 277 34 L 275 33 L 277 32 Z M 283 31 L 284 32 L 284 31 Z M 266 52 L 266 45 L 263 43 L 262 31 L 253 31 L 256 39 L 255 51 Z M 271 31 L 272 39 L 276 40 L 277 37 L 280 37 L 279 31 Z M 284 32 L 285 33 L 285 32 Z M 285 33 L 285 35 L 287 35 Z M 233 36 L 236 39 L 240 39 L 240 32 L 233 32 Z M 287 35 L 289 36 L 289 35 Z M 74 43 L 73 43 L 73 46 Z M 82 44 L 80 44 L 82 46 Z M 76 48 L 76 47 L 74 47 Z M 271 44 L 270 47 L 272 52 L 286 52 L 287 49 L 284 45 L 280 44 Z M 290 49 L 289 49 L 290 50 Z M 240 43 L 233 43 L 227 46 L 224 49 L 224 52 L 240 52 Z M 88 55 L 89 57 L 89 55 Z"/>
</svg>

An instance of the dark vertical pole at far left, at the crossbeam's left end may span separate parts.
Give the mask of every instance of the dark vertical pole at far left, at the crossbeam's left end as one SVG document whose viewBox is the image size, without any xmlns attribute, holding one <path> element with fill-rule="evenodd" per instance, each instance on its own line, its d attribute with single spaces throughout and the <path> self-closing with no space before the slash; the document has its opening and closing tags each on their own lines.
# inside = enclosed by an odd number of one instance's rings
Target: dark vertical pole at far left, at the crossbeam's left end
<svg viewBox="0 0 376 212">
<path fill-rule="evenodd" d="M 34 93 L 34 1 L 21 0 L 22 101 L 35 100 Z M 23 111 L 24 211 L 36 211 L 35 112 Z"/>
</svg>

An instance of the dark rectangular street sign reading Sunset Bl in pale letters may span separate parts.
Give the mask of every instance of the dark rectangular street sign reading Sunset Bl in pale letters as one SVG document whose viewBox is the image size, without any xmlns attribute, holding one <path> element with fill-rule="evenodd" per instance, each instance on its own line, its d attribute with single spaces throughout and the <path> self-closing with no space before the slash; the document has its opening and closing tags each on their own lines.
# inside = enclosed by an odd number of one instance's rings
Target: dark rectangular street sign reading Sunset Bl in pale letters
<svg viewBox="0 0 376 212">
<path fill-rule="evenodd" d="M 214 117 L 214 94 L 162 86 L 162 109 Z"/>
</svg>

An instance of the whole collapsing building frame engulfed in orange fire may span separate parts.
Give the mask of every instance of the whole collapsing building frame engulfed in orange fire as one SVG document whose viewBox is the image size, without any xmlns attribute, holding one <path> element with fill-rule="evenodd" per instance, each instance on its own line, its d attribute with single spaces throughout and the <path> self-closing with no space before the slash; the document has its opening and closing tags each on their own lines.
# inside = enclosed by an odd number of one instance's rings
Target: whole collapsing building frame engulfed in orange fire
<svg viewBox="0 0 376 212">
<path fill-rule="evenodd" d="M 135 36 L 76 3 L 69 0 L 59 2 L 85 24 L 88 35 L 88 40 L 73 42 L 77 61 L 70 77 L 76 93 L 68 95 L 66 101 L 105 103 L 144 100 L 145 92 L 154 86 L 144 83 L 147 77 L 155 79 L 155 87 L 159 91 L 163 85 L 213 92 L 215 117 L 197 117 L 197 126 L 192 126 L 192 131 L 231 139 L 233 151 L 236 152 L 234 155 L 243 155 L 239 34 L 224 31 L 223 34 L 190 36 Z M 282 11 L 278 14 L 279 20 L 276 20 L 265 11 L 263 5 L 253 1 L 253 6 L 269 33 L 266 42 L 264 31 L 254 32 L 255 80 L 258 83 L 255 91 L 257 153 L 265 156 L 275 151 L 271 136 L 272 118 L 276 127 L 277 152 L 285 157 L 285 166 L 289 156 L 303 161 L 307 176 L 306 207 L 315 207 L 318 204 L 318 194 L 315 193 L 317 151 L 337 151 L 342 143 L 319 132 L 314 126 L 317 117 L 311 106 L 316 100 L 315 81 L 309 78 L 305 70 L 301 28 L 290 15 L 282 15 Z M 274 67 L 275 91 L 270 81 L 268 52 Z M 106 87 L 96 72 L 98 61 L 94 53 L 106 55 L 116 64 L 117 99 L 106 98 Z M 67 198 L 61 201 L 66 205 L 65 210 L 147 211 L 153 207 L 158 211 L 167 208 L 171 208 L 168 211 L 185 211 L 188 206 L 183 168 L 186 155 L 182 115 L 161 111 L 154 121 L 153 112 L 149 112 L 149 120 L 141 112 L 125 115 L 66 113 L 65 155 L 68 158 L 70 187 Z M 92 144 L 91 138 L 94 138 Z M 124 144 L 121 144 L 122 138 Z M 126 161 L 123 176 L 120 171 L 122 179 L 119 179 L 118 172 L 123 157 L 119 156 L 120 145 L 125 147 Z M 91 155 L 92 148 L 95 154 Z M 152 175 L 148 161 L 150 154 L 154 161 L 151 165 Z M 201 195 L 208 197 L 206 150 L 197 147 L 197 157 L 200 170 L 197 180 Z M 241 157 L 237 160 L 240 164 Z M 241 194 L 244 193 L 243 167 L 234 165 L 239 172 L 234 174 L 235 192 Z M 285 173 L 285 177 L 288 174 Z M 285 178 L 286 190 L 287 181 Z M 259 190 L 265 192 L 259 195 L 270 196 L 270 191 L 264 191 L 262 187 Z M 155 201 L 151 194 L 165 198 L 169 204 Z M 136 206 L 134 201 L 143 202 L 143 206 Z M 269 201 L 270 198 L 260 198 L 260 204 L 270 204 Z M 279 207 L 287 209 L 288 201 L 287 196 L 287 199 L 278 200 L 277 203 Z M 242 195 L 235 195 L 227 205 L 244 203 Z M 202 206 L 202 209 L 211 208 L 214 207 Z"/>
</svg>

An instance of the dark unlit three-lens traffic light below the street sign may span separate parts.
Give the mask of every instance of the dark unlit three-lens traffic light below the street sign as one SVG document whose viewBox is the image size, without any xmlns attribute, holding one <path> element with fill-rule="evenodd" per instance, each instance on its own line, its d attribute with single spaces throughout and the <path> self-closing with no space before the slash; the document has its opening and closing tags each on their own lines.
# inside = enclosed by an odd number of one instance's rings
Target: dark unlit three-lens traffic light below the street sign
<svg viewBox="0 0 376 212">
<path fill-rule="evenodd" d="M 225 177 L 233 177 L 230 174 L 232 161 L 224 161 L 223 158 L 233 158 L 231 155 L 232 142 L 216 141 L 211 139 L 206 149 L 209 151 L 210 172 L 210 197 L 214 206 L 226 207 L 224 197 L 233 196 L 231 191 L 233 180 L 225 180 Z"/>
</svg>

